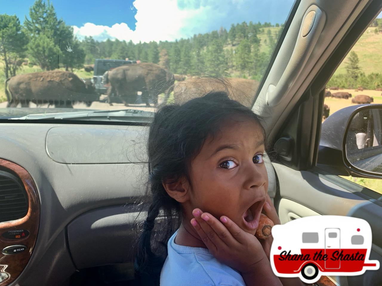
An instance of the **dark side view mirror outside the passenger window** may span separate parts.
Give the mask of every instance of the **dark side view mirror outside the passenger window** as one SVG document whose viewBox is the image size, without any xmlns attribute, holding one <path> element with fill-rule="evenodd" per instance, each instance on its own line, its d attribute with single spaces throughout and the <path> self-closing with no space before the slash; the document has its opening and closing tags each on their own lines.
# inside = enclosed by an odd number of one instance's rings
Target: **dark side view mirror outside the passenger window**
<svg viewBox="0 0 382 286">
<path fill-rule="evenodd" d="M 382 104 L 358 104 L 322 123 L 317 166 L 335 175 L 382 178 Z"/>
</svg>

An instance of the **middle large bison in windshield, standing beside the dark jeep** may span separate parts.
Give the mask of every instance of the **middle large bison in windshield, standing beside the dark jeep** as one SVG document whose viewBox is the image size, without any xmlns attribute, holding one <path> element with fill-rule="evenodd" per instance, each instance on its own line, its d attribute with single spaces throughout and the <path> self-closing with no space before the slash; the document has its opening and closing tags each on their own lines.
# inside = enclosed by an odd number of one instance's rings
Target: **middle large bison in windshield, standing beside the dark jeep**
<svg viewBox="0 0 382 286">
<path fill-rule="evenodd" d="M 158 103 L 158 95 L 165 93 L 174 84 L 174 75 L 157 64 L 140 63 L 128 64 L 116 67 L 108 72 L 107 95 L 109 98 L 113 94 L 127 106 L 128 103 L 135 103 L 137 93 L 142 92 L 142 100 L 147 106 L 153 101 Z"/>
</svg>

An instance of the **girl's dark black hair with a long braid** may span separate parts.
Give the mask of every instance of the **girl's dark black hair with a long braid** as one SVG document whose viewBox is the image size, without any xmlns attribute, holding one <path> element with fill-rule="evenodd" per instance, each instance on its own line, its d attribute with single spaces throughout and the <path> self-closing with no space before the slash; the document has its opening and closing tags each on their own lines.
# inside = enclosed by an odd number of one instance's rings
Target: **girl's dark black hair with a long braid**
<svg viewBox="0 0 382 286">
<path fill-rule="evenodd" d="M 226 91 L 211 91 L 184 104 L 167 104 L 155 112 L 149 128 L 147 142 L 149 178 L 146 199 L 150 199 L 147 219 L 143 231 L 134 243 L 134 270 L 141 283 L 159 285 L 160 272 L 167 257 L 167 242 L 180 227 L 181 204 L 171 198 L 162 182 L 177 182 L 182 176 L 189 180 L 189 168 L 207 137 L 215 136 L 227 117 L 241 115 L 262 126 L 263 117 L 250 108 L 231 100 Z M 266 144 L 266 143 L 265 143 Z M 268 145 L 265 151 L 268 153 Z M 147 193 L 151 191 L 151 196 Z M 159 216 L 160 210 L 162 214 Z M 153 230 L 154 222 L 160 223 L 160 230 Z M 155 249 L 155 253 L 153 250 Z"/>
</svg>

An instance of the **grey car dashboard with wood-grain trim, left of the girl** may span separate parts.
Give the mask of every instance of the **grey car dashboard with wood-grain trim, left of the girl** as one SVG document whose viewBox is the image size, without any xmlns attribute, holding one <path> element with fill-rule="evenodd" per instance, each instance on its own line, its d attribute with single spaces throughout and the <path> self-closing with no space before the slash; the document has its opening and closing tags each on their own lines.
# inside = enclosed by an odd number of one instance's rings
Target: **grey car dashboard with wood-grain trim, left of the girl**
<svg viewBox="0 0 382 286">
<path fill-rule="evenodd" d="M 136 202 L 144 194 L 146 131 L 2 124 L 2 286 L 65 284 L 77 269 L 131 263 L 134 226 L 146 218 Z"/>
</svg>

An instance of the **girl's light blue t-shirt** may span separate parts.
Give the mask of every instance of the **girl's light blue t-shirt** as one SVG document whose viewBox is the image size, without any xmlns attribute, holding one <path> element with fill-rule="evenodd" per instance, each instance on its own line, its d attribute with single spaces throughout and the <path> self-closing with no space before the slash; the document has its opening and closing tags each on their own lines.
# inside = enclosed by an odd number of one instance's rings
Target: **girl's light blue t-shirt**
<svg viewBox="0 0 382 286">
<path fill-rule="evenodd" d="M 240 272 L 220 263 L 207 248 L 175 244 L 178 230 L 168 239 L 160 286 L 245 286 Z"/>
</svg>

